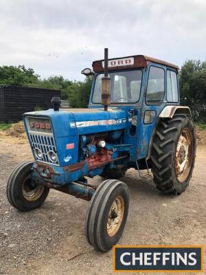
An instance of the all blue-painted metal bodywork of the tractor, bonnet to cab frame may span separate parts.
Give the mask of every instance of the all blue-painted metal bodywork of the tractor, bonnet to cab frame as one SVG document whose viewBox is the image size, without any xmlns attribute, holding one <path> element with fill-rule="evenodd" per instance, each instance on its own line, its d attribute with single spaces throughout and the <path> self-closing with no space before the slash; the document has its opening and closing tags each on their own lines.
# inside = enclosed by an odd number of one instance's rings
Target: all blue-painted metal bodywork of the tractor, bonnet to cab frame
<svg viewBox="0 0 206 275">
<path fill-rule="evenodd" d="M 73 170 L 71 172 L 64 170 L 65 166 L 80 162 L 84 159 L 84 155 L 93 155 L 95 153 L 95 146 L 87 145 L 87 135 L 93 133 L 111 133 L 111 142 L 106 144 L 106 148 L 113 151 L 112 159 L 121 156 L 122 153 L 128 154 L 128 159 L 109 164 L 111 165 L 111 168 L 115 167 L 116 164 L 125 164 L 125 162 L 128 167 L 134 167 L 137 160 L 139 161 L 140 159 L 145 159 L 148 155 L 150 138 L 155 129 L 155 125 L 157 124 L 159 113 L 165 105 L 170 104 L 166 102 L 166 93 L 160 105 L 146 104 L 145 96 L 148 81 L 148 70 L 152 65 L 164 69 L 166 85 L 167 67 L 150 63 L 147 68 L 143 69 L 141 94 L 139 101 L 135 104 L 111 104 L 113 111 L 104 111 L 100 104 L 93 104 L 91 101 L 94 89 L 93 83 L 91 87 L 91 98 L 89 100 L 89 109 L 94 109 L 93 111 L 85 112 L 84 110 L 75 111 L 73 109 L 71 109 L 71 111 L 54 111 L 53 109 L 49 109 L 47 111 L 25 113 L 24 116 L 30 115 L 50 119 L 60 164 L 60 166 L 47 164 L 47 166 L 50 166 L 53 169 L 53 173 L 49 173 L 48 170 L 44 170 L 41 166 L 34 162 L 32 173 L 33 180 L 38 181 L 40 184 L 44 184 L 44 182 L 47 181 L 51 184 L 58 184 L 59 186 L 62 186 L 65 184 L 71 184 L 73 181 L 78 181 L 84 176 L 93 177 L 95 175 L 100 175 L 104 169 L 104 166 L 95 168 L 94 170 L 88 170 L 87 159 L 84 160 L 84 165 L 77 170 Z M 95 76 L 96 75 L 97 74 L 95 74 Z M 171 104 L 174 105 L 174 103 Z M 179 102 L 176 104 L 179 105 Z M 156 116 L 150 124 L 144 124 L 144 113 L 147 110 L 156 111 Z M 135 133 L 131 131 L 131 118 L 133 115 L 137 116 L 137 127 Z M 104 122 L 107 120 L 115 120 L 116 123 L 97 123 L 85 126 L 85 122 L 87 124 L 87 122 L 91 121 Z M 25 129 L 27 131 L 26 123 Z M 122 132 L 124 132 L 124 134 L 121 137 L 120 144 L 117 144 L 116 140 Z M 74 146 L 73 148 L 67 149 L 67 144 L 74 144 Z"/>
</svg>

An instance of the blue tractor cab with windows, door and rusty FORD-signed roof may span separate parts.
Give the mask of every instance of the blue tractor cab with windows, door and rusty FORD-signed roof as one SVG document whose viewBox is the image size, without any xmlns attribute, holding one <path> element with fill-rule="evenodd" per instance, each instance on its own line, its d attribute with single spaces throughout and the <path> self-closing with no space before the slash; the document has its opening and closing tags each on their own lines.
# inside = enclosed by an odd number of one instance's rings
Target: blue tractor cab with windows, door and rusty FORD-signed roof
<svg viewBox="0 0 206 275">
<path fill-rule="evenodd" d="M 102 108 L 102 79 L 105 61 L 93 62 L 93 85 L 89 108 Z M 108 59 L 112 109 L 123 109 L 130 116 L 126 140 L 133 144 L 138 159 L 148 155 L 148 144 L 165 106 L 179 105 L 179 67 L 144 55 Z M 82 71 L 84 73 L 84 70 Z M 87 74 L 86 74 L 87 75 Z M 170 107 L 169 107 L 170 108 Z"/>
</svg>

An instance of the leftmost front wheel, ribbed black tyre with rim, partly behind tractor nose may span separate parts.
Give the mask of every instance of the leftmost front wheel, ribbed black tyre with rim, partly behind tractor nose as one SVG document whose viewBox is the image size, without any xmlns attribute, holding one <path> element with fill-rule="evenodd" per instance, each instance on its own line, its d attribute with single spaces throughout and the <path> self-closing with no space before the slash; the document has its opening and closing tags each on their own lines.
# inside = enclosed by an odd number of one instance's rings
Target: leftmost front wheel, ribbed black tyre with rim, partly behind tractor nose
<svg viewBox="0 0 206 275">
<path fill-rule="evenodd" d="M 47 186 L 31 181 L 33 162 L 24 162 L 12 171 L 7 184 L 8 201 L 20 211 L 30 211 L 40 207 L 49 193 Z"/>
</svg>

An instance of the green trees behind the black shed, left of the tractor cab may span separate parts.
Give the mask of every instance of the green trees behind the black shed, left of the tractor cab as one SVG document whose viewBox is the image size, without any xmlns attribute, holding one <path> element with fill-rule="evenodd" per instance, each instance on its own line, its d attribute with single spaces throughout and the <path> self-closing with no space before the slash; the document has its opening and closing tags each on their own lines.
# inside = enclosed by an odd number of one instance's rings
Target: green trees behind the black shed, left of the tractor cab
<svg viewBox="0 0 206 275">
<path fill-rule="evenodd" d="M 60 89 L 61 99 L 69 100 L 74 108 L 87 107 L 91 90 L 92 78 L 88 76 L 84 81 L 71 81 L 63 76 L 51 76 L 41 80 L 34 70 L 26 69 L 24 65 L 19 67 L 0 67 L 0 85 L 15 85 L 44 89 Z M 38 107 L 36 107 L 36 111 Z"/>
</svg>

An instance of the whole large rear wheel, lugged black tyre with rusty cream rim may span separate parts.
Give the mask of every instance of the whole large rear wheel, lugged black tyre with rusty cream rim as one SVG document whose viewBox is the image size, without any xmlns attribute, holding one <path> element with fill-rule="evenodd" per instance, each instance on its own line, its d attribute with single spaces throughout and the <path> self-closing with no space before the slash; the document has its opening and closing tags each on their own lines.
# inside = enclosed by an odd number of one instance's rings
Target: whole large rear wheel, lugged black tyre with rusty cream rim
<svg viewBox="0 0 206 275">
<path fill-rule="evenodd" d="M 187 115 L 175 115 L 157 127 L 152 144 L 152 173 L 159 190 L 180 194 L 192 177 L 196 157 L 194 124 Z"/>
</svg>

